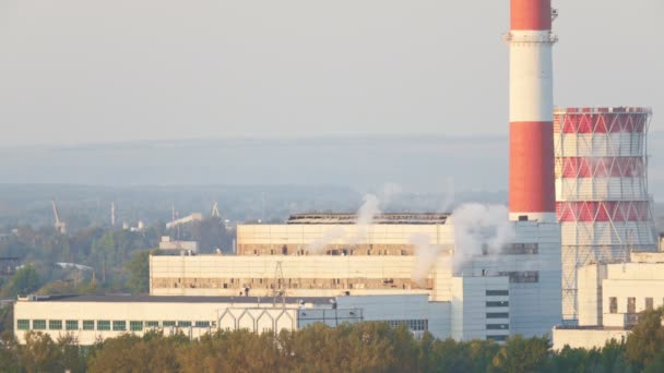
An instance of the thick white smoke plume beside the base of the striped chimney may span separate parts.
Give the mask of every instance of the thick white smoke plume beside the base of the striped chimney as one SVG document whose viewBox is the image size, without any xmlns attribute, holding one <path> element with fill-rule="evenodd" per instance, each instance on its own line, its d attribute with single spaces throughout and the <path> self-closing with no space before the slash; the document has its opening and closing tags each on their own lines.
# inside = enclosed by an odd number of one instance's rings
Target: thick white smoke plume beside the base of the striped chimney
<svg viewBox="0 0 664 373">
<path fill-rule="evenodd" d="M 454 268 L 477 255 L 495 255 L 517 237 L 501 205 L 464 204 L 452 213 Z"/>
</svg>

